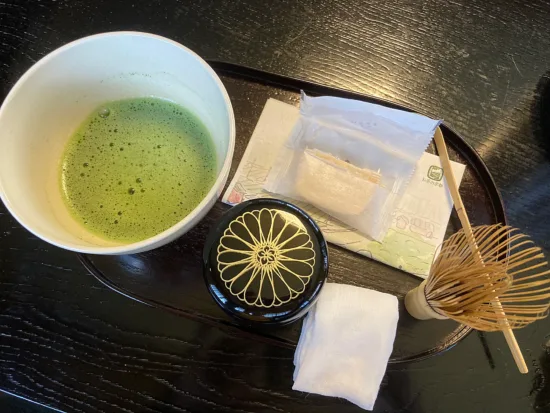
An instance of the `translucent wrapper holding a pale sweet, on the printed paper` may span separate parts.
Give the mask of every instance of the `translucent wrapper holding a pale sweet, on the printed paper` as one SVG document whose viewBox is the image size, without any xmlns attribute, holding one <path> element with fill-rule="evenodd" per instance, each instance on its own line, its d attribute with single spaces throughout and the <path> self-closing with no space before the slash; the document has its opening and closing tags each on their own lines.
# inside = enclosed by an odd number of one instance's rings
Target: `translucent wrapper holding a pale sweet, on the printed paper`
<svg viewBox="0 0 550 413">
<path fill-rule="evenodd" d="M 372 103 L 302 93 L 300 118 L 264 186 L 381 241 L 440 124 Z"/>
</svg>

